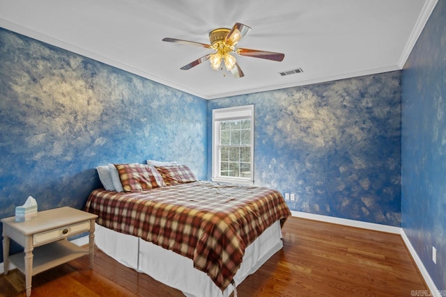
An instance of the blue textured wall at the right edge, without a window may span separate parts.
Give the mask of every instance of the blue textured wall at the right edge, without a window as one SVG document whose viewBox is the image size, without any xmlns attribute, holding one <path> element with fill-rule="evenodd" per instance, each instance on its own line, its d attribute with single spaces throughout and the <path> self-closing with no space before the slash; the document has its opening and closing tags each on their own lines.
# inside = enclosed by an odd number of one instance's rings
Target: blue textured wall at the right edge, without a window
<svg viewBox="0 0 446 297">
<path fill-rule="evenodd" d="M 446 290 L 446 1 L 438 1 L 408 58 L 402 93 L 402 227 Z"/>
</svg>

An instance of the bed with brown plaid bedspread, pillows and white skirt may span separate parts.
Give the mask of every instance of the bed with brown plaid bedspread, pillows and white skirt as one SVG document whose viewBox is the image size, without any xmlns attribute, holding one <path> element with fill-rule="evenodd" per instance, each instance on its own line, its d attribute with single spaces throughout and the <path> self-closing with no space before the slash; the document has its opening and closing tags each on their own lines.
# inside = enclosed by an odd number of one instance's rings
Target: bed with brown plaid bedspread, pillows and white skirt
<svg viewBox="0 0 446 297">
<path fill-rule="evenodd" d="M 123 191 L 98 188 L 86 202 L 96 245 L 185 296 L 229 296 L 282 248 L 291 212 L 278 191 L 198 181 L 187 166 L 114 167 Z"/>
</svg>

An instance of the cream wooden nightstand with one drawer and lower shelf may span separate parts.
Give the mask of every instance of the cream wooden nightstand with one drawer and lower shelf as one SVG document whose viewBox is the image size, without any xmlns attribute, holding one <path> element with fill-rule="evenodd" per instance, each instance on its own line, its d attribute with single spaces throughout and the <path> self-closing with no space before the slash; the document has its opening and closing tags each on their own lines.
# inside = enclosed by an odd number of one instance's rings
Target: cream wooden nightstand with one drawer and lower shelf
<svg viewBox="0 0 446 297">
<path fill-rule="evenodd" d="M 61 207 L 38 211 L 37 218 L 16 222 L 15 216 L 2 218 L 3 223 L 3 266 L 8 274 L 12 262 L 25 274 L 26 296 L 31 295 L 33 275 L 71 261 L 83 255 L 90 255 L 90 268 L 94 258 L 95 214 Z M 66 240 L 68 236 L 89 232 L 89 248 L 76 246 Z M 9 255 L 9 242 L 13 239 L 24 247 L 24 252 Z"/>
</svg>

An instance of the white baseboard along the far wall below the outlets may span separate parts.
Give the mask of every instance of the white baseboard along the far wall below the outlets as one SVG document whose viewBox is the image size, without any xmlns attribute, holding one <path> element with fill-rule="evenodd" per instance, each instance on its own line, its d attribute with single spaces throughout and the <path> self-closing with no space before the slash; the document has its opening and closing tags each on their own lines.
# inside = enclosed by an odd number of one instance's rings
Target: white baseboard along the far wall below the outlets
<svg viewBox="0 0 446 297">
<path fill-rule="evenodd" d="M 323 216 L 321 214 L 309 214 L 302 211 L 291 211 L 293 216 L 298 218 L 308 218 L 309 220 L 320 220 L 322 222 L 333 223 L 350 227 L 357 227 L 367 230 L 375 230 L 393 234 L 401 234 L 400 227 L 381 225 L 376 223 L 360 222 L 359 220 L 349 220 L 348 218 L 335 218 L 334 216 Z"/>
</svg>

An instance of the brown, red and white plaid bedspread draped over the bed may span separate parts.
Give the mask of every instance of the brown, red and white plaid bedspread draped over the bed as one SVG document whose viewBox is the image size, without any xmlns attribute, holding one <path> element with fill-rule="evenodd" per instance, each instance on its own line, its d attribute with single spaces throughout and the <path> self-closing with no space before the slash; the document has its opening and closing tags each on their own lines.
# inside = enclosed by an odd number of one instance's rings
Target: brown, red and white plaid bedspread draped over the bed
<svg viewBox="0 0 446 297">
<path fill-rule="evenodd" d="M 86 211 L 98 215 L 99 225 L 192 259 L 222 290 L 236 274 L 245 248 L 276 220 L 283 224 L 291 216 L 278 191 L 215 182 L 132 193 L 96 189 Z"/>
</svg>

